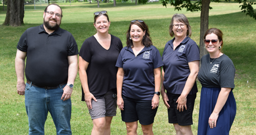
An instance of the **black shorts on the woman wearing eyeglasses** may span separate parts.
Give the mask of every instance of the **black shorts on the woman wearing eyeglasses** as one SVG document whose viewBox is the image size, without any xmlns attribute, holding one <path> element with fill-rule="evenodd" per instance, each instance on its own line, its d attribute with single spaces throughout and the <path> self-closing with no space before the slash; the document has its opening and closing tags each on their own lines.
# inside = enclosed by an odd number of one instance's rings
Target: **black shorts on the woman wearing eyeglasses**
<svg viewBox="0 0 256 135">
<path fill-rule="evenodd" d="M 192 125 L 192 115 L 196 100 L 196 94 L 187 96 L 187 110 L 184 108 L 183 112 L 179 112 L 179 110 L 177 110 L 178 103 L 176 103 L 176 101 L 179 98 L 180 94 L 167 93 L 167 95 L 169 98 L 168 104 L 170 105 L 170 109 L 168 109 L 168 122 L 178 123 L 180 126 Z"/>
</svg>

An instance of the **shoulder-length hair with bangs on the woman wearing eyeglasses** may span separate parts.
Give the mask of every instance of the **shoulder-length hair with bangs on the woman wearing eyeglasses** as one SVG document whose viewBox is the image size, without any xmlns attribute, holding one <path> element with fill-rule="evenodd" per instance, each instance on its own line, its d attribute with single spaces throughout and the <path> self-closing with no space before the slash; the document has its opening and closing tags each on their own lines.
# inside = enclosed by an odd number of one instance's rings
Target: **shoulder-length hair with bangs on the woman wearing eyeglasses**
<svg viewBox="0 0 256 135">
<path fill-rule="evenodd" d="M 188 30 L 187 30 L 187 35 L 190 37 L 192 35 L 192 31 L 191 31 L 191 26 L 189 25 L 188 22 L 188 18 L 184 15 L 184 14 L 174 14 L 172 17 L 172 21 L 170 21 L 170 26 L 169 26 L 169 33 L 170 36 L 173 37 L 174 33 L 173 33 L 173 22 L 174 20 L 178 21 L 178 22 L 182 22 L 185 25 L 187 25 Z"/>
</svg>

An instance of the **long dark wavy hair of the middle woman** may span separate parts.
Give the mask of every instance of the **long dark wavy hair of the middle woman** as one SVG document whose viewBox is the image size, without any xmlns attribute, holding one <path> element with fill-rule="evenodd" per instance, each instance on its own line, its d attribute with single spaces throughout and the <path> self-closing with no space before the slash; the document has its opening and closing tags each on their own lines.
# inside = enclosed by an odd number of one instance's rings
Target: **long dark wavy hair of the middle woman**
<svg viewBox="0 0 256 135">
<path fill-rule="evenodd" d="M 143 40 L 141 41 L 141 44 L 146 46 L 146 47 L 149 47 L 150 45 L 152 45 L 148 25 L 146 25 L 146 23 L 144 21 L 143 22 L 135 21 L 135 22 L 130 23 L 129 29 L 126 32 L 126 45 L 127 45 L 127 47 L 130 47 L 130 46 L 133 47 L 132 40 L 130 40 L 130 37 L 131 37 L 130 31 L 131 31 L 131 26 L 132 25 L 137 25 L 141 28 L 141 30 L 143 30 L 143 32 L 145 31 L 145 35 L 143 37 Z"/>
</svg>

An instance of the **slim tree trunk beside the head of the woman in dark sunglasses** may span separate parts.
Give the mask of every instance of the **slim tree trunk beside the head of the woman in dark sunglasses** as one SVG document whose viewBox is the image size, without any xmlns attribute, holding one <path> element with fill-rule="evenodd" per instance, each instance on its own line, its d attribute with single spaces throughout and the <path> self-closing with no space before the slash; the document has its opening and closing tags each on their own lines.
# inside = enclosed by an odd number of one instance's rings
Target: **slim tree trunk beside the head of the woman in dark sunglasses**
<svg viewBox="0 0 256 135">
<path fill-rule="evenodd" d="M 203 36 L 205 35 L 205 32 L 208 30 L 210 2 L 211 2 L 210 0 L 202 1 L 201 25 L 200 25 L 200 59 L 203 55 L 206 55 L 208 53 L 205 49 Z"/>
</svg>

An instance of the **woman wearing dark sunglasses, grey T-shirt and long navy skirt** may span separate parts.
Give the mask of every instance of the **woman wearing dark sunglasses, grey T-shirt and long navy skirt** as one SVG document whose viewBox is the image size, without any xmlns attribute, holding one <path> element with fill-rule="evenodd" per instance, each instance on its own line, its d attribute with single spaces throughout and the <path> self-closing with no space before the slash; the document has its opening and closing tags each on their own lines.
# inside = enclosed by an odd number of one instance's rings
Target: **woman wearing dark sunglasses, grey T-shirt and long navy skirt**
<svg viewBox="0 0 256 135">
<path fill-rule="evenodd" d="M 209 54 L 201 59 L 198 79 L 202 84 L 198 135 L 229 134 L 236 114 L 232 90 L 235 87 L 235 66 L 225 54 L 222 32 L 210 28 L 205 33 L 205 49 Z"/>
</svg>

